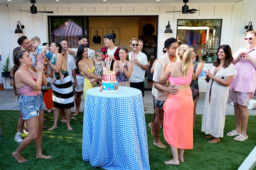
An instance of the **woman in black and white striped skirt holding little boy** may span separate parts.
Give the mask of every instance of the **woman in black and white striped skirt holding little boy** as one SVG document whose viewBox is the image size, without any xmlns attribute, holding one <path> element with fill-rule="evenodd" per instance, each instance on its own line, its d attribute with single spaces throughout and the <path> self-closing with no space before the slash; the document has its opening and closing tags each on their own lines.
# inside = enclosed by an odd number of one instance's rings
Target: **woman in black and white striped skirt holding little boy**
<svg viewBox="0 0 256 170">
<path fill-rule="evenodd" d="M 60 108 L 66 109 L 66 118 L 67 118 L 67 128 L 72 130 L 70 126 L 70 117 L 71 117 L 71 107 L 74 107 L 74 96 L 73 96 L 73 86 L 71 78 L 68 75 L 68 66 L 64 56 L 61 55 L 62 47 L 58 42 L 51 44 L 50 51 L 53 53 L 51 62 L 48 58 L 44 57 L 44 60 L 48 62 L 49 66 L 56 72 L 57 80 L 54 81 L 52 85 L 52 102 L 54 106 L 53 110 L 53 126 L 48 129 L 52 130 L 58 127 L 57 122 L 59 118 Z M 59 72 L 62 72 L 64 75 L 63 81 L 60 82 Z M 48 74 L 51 74 L 48 72 Z"/>
</svg>

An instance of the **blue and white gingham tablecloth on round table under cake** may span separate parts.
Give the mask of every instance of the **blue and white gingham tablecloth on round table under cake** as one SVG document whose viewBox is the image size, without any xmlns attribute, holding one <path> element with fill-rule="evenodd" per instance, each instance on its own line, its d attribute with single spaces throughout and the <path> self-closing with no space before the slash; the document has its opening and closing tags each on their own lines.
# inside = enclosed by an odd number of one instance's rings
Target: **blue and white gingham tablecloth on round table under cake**
<svg viewBox="0 0 256 170">
<path fill-rule="evenodd" d="M 148 141 L 142 94 L 131 87 L 117 92 L 86 91 L 82 158 L 108 170 L 148 170 Z"/>
</svg>

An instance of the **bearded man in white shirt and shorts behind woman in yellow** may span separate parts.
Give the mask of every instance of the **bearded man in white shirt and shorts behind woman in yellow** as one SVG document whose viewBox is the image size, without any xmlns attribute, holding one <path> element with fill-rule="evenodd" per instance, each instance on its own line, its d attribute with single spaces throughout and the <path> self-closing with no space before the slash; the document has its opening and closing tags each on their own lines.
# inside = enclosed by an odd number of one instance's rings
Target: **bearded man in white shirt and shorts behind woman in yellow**
<svg viewBox="0 0 256 170">
<path fill-rule="evenodd" d="M 78 44 L 79 44 L 79 46 L 80 45 L 87 46 L 87 44 L 88 44 L 87 37 L 84 35 L 78 37 Z M 75 62 L 76 62 L 77 49 L 78 48 L 69 48 L 68 49 L 68 53 L 74 55 Z M 94 59 L 95 51 L 88 47 L 87 47 L 87 50 L 88 50 L 88 57 L 90 57 L 91 59 Z M 76 74 L 76 80 L 77 80 L 76 97 L 75 97 L 76 112 L 73 114 L 73 116 L 78 115 L 80 112 L 79 108 L 80 108 L 80 103 L 81 103 L 81 95 L 82 95 L 83 89 L 84 89 L 84 77 L 80 74 Z"/>
</svg>

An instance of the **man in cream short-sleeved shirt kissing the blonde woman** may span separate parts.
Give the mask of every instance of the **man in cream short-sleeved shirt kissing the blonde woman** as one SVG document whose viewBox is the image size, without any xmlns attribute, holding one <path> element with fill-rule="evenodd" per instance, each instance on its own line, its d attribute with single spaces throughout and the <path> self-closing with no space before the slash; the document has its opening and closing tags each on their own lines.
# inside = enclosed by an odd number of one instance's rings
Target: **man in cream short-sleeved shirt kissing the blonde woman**
<svg viewBox="0 0 256 170">
<path fill-rule="evenodd" d="M 165 51 L 163 50 L 164 55 L 162 55 L 160 58 L 163 58 L 166 60 L 166 64 L 169 64 L 170 62 L 176 61 L 176 50 L 179 47 L 178 41 L 175 38 L 169 38 L 164 42 Z M 155 69 L 154 69 L 154 75 L 153 75 L 153 87 L 152 87 L 152 94 L 154 97 L 154 106 L 156 109 L 156 117 L 154 119 L 154 123 L 149 123 L 149 127 L 151 131 L 154 131 L 155 133 L 155 139 L 153 144 L 160 148 L 166 148 L 166 146 L 161 142 L 159 138 L 159 129 L 161 125 L 161 121 L 164 117 L 164 110 L 163 105 L 164 101 L 167 100 L 169 93 L 176 94 L 178 92 L 178 89 L 175 88 L 174 85 L 170 85 L 169 80 L 167 79 L 166 83 L 161 84 L 160 83 L 160 75 L 162 71 L 162 65 L 159 62 L 156 62 Z M 153 120 L 152 120 L 153 121 Z M 154 129 L 154 130 L 153 130 Z"/>
</svg>

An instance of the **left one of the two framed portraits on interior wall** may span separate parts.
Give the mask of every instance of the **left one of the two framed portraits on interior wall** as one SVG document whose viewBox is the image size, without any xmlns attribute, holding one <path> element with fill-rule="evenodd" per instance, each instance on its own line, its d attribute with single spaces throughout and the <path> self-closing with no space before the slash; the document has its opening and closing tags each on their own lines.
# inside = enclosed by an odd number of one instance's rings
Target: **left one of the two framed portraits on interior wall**
<svg viewBox="0 0 256 170">
<path fill-rule="evenodd" d="M 102 45 L 103 28 L 90 28 L 90 45 Z"/>
</svg>

